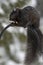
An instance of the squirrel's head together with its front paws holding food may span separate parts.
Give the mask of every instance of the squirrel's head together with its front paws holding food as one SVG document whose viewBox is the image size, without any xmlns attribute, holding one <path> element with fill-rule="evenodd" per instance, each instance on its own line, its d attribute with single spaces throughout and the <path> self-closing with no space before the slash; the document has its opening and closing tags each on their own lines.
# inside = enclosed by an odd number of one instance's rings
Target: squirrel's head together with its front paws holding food
<svg viewBox="0 0 43 65">
<path fill-rule="evenodd" d="M 10 21 L 13 21 L 12 26 L 24 27 L 23 23 L 19 21 L 21 9 L 16 8 L 10 14 Z"/>
</svg>

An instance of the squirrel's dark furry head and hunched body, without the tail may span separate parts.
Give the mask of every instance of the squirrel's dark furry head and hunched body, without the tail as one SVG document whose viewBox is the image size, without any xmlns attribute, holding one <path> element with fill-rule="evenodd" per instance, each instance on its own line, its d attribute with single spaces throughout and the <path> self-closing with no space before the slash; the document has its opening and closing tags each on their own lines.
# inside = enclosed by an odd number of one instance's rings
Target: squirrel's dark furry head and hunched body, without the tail
<svg viewBox="0 0 43 65">
<path fill-rule="evenodd" d="M 38 28 L 40 16 L 35 8 L 27 6 L 23 9 L 17 8 L 16 11 L 13 10 L 10 14 L 10 20 L 17 21 L 18 26 L 26 27 L 32 25 Z"/>
</svg>

